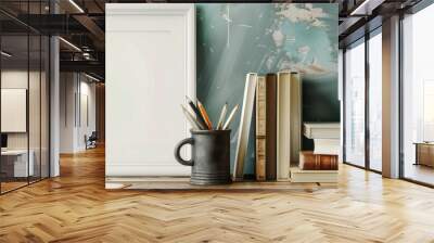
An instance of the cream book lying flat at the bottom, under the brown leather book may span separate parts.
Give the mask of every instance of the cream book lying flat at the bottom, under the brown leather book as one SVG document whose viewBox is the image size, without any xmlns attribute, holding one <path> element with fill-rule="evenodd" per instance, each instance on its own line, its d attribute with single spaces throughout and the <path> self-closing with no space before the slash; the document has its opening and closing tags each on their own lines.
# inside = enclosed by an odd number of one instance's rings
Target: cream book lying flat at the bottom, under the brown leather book
<svg viewBox="0 0 434 243">
<path fill-rule="evenodd" d="M 303 170 L 298 167 L 291 168 L 291 182 L 336 183 L 337 178 L 337 170 Z"/>
</svg>

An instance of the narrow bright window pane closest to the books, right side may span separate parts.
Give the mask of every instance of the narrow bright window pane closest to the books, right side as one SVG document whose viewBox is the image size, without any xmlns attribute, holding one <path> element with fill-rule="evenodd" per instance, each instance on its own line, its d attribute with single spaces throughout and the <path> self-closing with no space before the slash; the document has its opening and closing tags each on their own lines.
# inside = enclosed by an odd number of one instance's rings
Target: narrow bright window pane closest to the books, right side
<svg viewBox="0 0 434 243">
<path fill-rule="evenodd" d="M 345 161 L 365 166 L 365 43 L 345 52 Z"/>
</svg>

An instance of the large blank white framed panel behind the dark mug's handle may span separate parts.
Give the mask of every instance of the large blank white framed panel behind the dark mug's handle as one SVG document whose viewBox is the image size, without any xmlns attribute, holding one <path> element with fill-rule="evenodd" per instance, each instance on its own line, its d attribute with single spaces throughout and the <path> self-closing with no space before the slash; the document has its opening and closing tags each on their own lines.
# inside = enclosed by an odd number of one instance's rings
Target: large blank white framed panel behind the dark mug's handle
<svg viewBox="0 0 434 243">
<path fill-rule="evenodd" d="M 106 4 L 105 29 L 106 176 L 190 175 L 174 149 L 190 137 L 194 4 Z"/>
</svg>

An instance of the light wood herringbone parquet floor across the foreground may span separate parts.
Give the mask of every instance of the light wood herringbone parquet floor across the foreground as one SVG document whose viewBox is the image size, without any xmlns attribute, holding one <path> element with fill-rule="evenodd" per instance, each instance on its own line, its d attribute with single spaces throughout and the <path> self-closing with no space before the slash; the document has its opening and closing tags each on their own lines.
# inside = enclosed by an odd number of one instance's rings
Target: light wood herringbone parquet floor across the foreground
<svg viewBox="0 0 434 243">
<path fill-rule="evenodd" d="M 434 190 L 343 166 L 337 189 L 104 190 L 104 151 L 0 196 L 0 242 L 434 242 Z"/>
</svg>

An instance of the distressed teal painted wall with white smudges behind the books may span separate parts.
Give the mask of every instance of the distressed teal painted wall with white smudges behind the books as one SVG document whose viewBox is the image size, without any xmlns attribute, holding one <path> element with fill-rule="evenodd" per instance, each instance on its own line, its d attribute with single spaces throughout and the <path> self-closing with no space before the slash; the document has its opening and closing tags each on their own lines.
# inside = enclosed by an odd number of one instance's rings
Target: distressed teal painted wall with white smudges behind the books
<svg viewBox="0 0 434 243">
<path fill-rule="evenodd" d="M 196 14 L 197 98 L 213 120 L 225 102 L 242 104 L 247 73 L 283 69 L 302 73 L 304 122 L 340 120 L 337 4 L 199 3 Z M 232 164 L 239 120 L 231 125 Z M 251 139 L 245 174 L 254 174 L 254 163 Z"/>
</svg>

